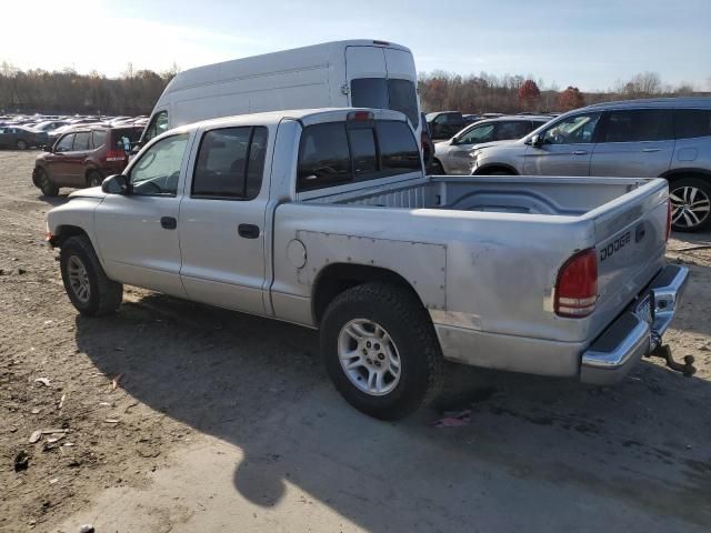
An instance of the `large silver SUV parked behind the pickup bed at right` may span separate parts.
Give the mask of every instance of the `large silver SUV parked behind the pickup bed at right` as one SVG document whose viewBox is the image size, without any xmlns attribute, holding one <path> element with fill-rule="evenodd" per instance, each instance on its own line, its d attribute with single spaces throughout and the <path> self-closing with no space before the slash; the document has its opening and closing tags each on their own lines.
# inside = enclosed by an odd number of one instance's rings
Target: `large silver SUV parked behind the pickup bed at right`
<svg viewBox="0 0 711 533">
<path fill-rule="evenodd" d="M 665 178 L 674 229 L 711 228 L 711 98 L 590 105 L 472 158 L 477 175 Z"/>
</svg>

